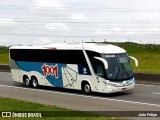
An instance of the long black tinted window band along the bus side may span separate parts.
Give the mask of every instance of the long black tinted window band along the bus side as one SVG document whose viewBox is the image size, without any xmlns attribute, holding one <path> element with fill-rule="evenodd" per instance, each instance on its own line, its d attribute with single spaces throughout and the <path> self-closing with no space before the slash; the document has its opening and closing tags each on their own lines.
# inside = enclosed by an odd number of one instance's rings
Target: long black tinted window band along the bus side
<svg viewBox="0 0 160 120">
<path fill-rule="evenodd" d="M 11 49 L 10 56 L 15 61 L 80 64 L 88 67 L 82 50 Z"/>
</svg>

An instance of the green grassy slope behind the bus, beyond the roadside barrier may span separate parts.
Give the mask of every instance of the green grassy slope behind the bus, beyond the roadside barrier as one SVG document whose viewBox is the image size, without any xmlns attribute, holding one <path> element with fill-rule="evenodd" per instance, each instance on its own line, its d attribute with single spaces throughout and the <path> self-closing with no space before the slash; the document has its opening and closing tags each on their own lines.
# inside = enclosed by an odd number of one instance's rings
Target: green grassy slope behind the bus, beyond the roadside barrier
<svg viewBox="0 0 160 120">
<path fill-rule="evenodd" d="M 139 66 L 138 68 L 134 67 L 135 72 L 160 73 L 160 45 L 137 44 L 132 42 L 105 43 L 122 47 L 130 56 L 136 57 L 139 61 Z M 8 52 L 9 50 L 7 47 L 0 47 L 0 64 L 9 64 Z"/>
</svg>

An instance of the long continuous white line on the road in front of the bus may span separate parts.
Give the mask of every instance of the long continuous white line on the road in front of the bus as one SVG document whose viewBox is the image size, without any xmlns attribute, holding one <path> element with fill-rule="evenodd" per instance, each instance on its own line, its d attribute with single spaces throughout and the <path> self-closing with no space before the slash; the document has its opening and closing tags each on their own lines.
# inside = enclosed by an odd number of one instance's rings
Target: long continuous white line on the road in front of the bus
<svg viewBox="0 0 160 120">
<path fill-rule="evenodd" d="M 100 100 L 109 100 L 109 101 L 116 101 L 116 102 L 118 101 L 118 102 L 124 102 L 124 103 L 132 103 L 132 104 L 140 104 L 140 105 L 160 107 L 159 104 L 152 104 L 152 103 L 143 103 L 143 102 L 126 101 L 126 100 L 118 100 L 118 99 L 100 98 L 100 97 L 93 97 L 93 96 L 86 96 L 86 95 L 78 95 L 78 94 L 70 94 L 70 93 L 63 93 L 63 92 L 39 90 L 39 89 L 32 89 L 32 88 L 15 87 L 15 86 L 8 86 L 8 85 L 0 85 L 0 87 L 25 89 L 25 90 L 30 90 L 30 91 L 48 92 L 48 93 L 64 94 L 64 95 L 70 95 L 70 96 L 78 96 L 78 97 L 85 97 L 85 98 L 94 98 L 94 99 L 100 99 Z"/>
</svg>

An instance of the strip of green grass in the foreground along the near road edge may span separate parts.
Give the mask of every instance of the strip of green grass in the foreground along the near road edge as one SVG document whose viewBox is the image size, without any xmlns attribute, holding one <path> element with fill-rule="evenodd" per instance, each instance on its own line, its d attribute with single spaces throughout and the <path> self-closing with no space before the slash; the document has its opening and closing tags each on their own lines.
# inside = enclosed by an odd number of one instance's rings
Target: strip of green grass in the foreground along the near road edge
<svg viewBox="0 0 160 120">
<path fill-rule="evenodd" d="M 60 114 L 61 117 L 43 117 L 42 113 L 42 118 L 0 118 L 1 120 L 113 120 L 113 118 L 108 118 L 108 117 L 98 117 L 97 115 L 93 115 L 91 113 L 86 113 L 86 112 L 80 112 L 80 111 L 73 111 L 69 109 L 64 109 L 60 107 L 55 107 L 55 106 L 47 106 L 47 105 L 42 105 L 42 104 L 37 104 L 37 103 L 32 103 L 32 102 L 24 102 L 20 100 L 14 100 L 14 99 L 8 99 L 8 98 L 0 98 L 0 111 L 7 111 L 7 112 L 25 112 L 25 111 L 30 111 L 30 112 L 44 112 L 44 111 L 49 111 L 52 112 L 54 115 L 57 116 L 56 114 Z M 56 112 L 59 111 L 59 112 Z M 77 116 L 82 116 L 86 115 L 87 117 L 63 117 L 63 113 L 66 114 L 65 112 L 69 113 L 76 113 Z M 59 115 L 58 115 L 59 116 Z M 96 117 L 93 117 L 96 116 Z M 119 120 L 118 118 L 114 118 L 115 120 Z"/>
</svg>

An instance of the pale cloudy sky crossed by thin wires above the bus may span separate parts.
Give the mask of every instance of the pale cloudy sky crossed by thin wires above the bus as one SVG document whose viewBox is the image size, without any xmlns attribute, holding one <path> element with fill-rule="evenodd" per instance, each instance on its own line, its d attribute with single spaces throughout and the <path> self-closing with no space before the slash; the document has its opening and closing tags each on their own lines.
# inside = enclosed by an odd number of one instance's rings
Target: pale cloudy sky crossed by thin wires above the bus
<svg viewBox="0 0 160 120">
<path fill-rule="evenodd" d="M 160 0 L 0 0 L 0 46 L 160 44 Z"/>
</svg>

